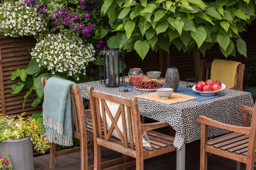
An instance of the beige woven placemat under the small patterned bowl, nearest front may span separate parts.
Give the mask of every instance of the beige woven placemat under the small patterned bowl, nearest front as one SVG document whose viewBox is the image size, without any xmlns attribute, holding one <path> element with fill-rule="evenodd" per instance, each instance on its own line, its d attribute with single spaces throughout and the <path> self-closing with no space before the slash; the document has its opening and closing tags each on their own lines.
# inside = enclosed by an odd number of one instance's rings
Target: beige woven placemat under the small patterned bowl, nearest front
<svg viewBox="0 0 256 170">
<path fill-rule="evenodd" d="M 156 92 L 143 94 L 143 95 L 138 95 L 136 97 L 143 98 L 143 99 L 148 99 L 148 100 L 152 100 L 152 101 L 157 101 L 157 102 L 164 103 L 164 104 L 174 104 L 174 103 L 179 103 L 179 102 L 193 100 L 193 99 L 198 98 L 198 97 L 194 97 L 194 96 L 188 96 L 188 95 L 184 95 L 184 94 L 173 93 L 168 99 L 162 99 L 161 97 L 159 97 L 157 95 Z"/>
</svg>

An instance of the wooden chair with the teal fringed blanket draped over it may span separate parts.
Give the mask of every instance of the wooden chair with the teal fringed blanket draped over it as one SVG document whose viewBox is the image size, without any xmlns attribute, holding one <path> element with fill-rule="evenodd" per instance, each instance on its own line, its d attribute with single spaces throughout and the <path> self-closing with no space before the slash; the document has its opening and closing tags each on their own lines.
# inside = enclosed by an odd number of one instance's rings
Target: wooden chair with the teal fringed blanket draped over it
<svg viewBox="0 0 256 170">
<path fill-rule="evenodd" d="M 45 77 L 41 78 L 42 86 L 45 87 L 47 79 Z M 72 101 L 72 108 L 74 114 L 74 120 L 72 117 L 72 129 L 73 129 L 73 137 L 83 140 L 83 147 L 76 147 L 72 149 L 66 149 L 56 152 L 56 144 L 50 142 L 50 168 L 56 167 L 56 157 L 61 155 L 66 155 L 73 152 L 78 152 L 81 150 L 81 169 L 93 169 L 93 165 L 87 167 L 87 149 L 90 149 L 91 157 L 93 158 L 94 150 L 93 150 L 93 130 L 92 130 L 92 120 L 91 120 L 91 110 L 86 110 L 83 108 L 83 101 L 80 93 L 80 89 L 78 85 L 73 85 L 70 87 L 71 92 L 71 101 Z M 88 126 L 85 127 L 85 118 L 83 117 L 84 123 L 79 124 L 78 116 L 77 115 L 83 114 L 87 116 L 87 120 L 89 122 Z M 74 123 L 73 123 L 74 122 Z M 86 129 L 86 132 L 83 135 L 80 134 L 79 128 Z M 90 141 L 90 144 L 87 145 L 87 141 Z"/>
</svg>

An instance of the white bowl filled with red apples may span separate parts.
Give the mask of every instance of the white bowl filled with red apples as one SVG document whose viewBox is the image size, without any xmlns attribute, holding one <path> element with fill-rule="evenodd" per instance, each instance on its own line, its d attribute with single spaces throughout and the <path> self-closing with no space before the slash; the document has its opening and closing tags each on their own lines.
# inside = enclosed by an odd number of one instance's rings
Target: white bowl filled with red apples
<svg viewBox="0 0 256 170">
<path fill-rule="evenodd" d="M 196 91 L 200 95 L 211 96 L 215 95 L 219 91 L 226 88 L 225 84 L 220 81 L 213 81 L 211 79 L 204 81 L 199 81 L 196 85 L 192 87 L 192 90 Z"/>
</svg>

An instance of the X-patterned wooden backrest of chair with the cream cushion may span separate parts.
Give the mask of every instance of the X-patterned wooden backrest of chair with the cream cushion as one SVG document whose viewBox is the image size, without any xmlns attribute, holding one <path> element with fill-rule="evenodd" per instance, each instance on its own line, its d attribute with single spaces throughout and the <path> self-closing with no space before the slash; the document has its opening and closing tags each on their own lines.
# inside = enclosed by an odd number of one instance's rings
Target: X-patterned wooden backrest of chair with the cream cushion
<svg viewBox="0 0 256 170">
<path fill-rule="evenodd" d="M 91 104 L 94 140 L 96 136 L 96 138 L 108 142 L 113 140 L 110 137 L 114 135 L 121 140 L 120 144 L 125 148 L 135 150 L 135 143 L 136 147 L 142 146 L 142 140 L 134 140 L 142 138 L 136 97 L 116 96 L 94 90 L 93 87 L 88 87 L 88 95 Z M 99 128 L 101 127 L 101 120 L 103 121 L 104 136 L 102 129 Z"/>
</svg>

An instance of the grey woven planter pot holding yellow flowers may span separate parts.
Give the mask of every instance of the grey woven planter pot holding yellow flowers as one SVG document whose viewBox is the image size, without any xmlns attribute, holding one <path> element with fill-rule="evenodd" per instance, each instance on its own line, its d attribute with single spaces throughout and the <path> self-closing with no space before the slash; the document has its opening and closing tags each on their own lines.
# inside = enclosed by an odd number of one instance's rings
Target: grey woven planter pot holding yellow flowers
<svg viewBox="0 0 256 170">
<path fill-rule="evenodd" d="M 10 153 L 13 170 L 34 170 L 33 146 L 30 138 L 0 142 L 0 157 Z"/>
</svg>

